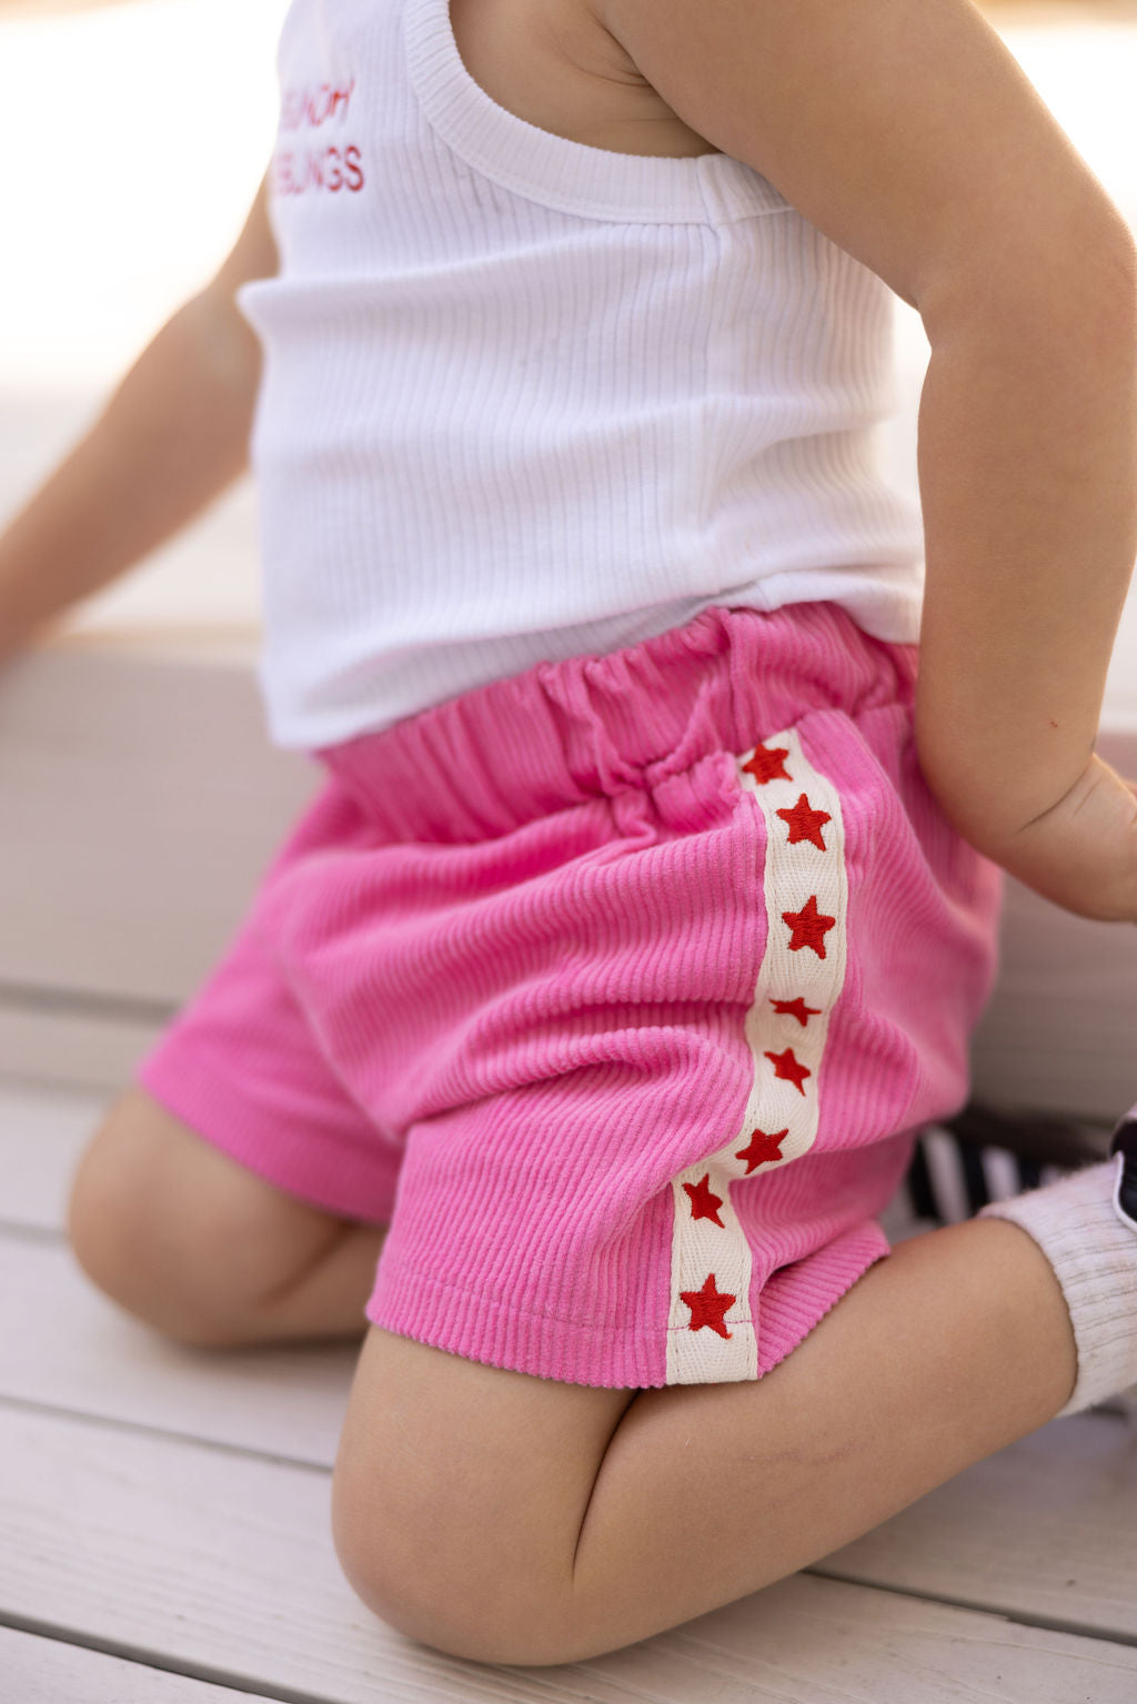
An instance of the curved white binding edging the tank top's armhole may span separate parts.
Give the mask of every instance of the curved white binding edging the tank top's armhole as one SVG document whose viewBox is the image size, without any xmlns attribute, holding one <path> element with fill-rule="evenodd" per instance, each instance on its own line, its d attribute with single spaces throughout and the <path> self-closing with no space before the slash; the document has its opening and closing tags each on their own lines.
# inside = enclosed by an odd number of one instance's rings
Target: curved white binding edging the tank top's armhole
<svg viewBox="0 0 1137 1704">
<path fill-rule="evenodd" d="M 568 213 L 648 223 L 728 223 L 789 206 L 730 153 L 615 153 L 518 118 L 467 72 L 450 0 L 404 0 L 407 70 L 423 112 L 467 165 Z"/>
</svg>

